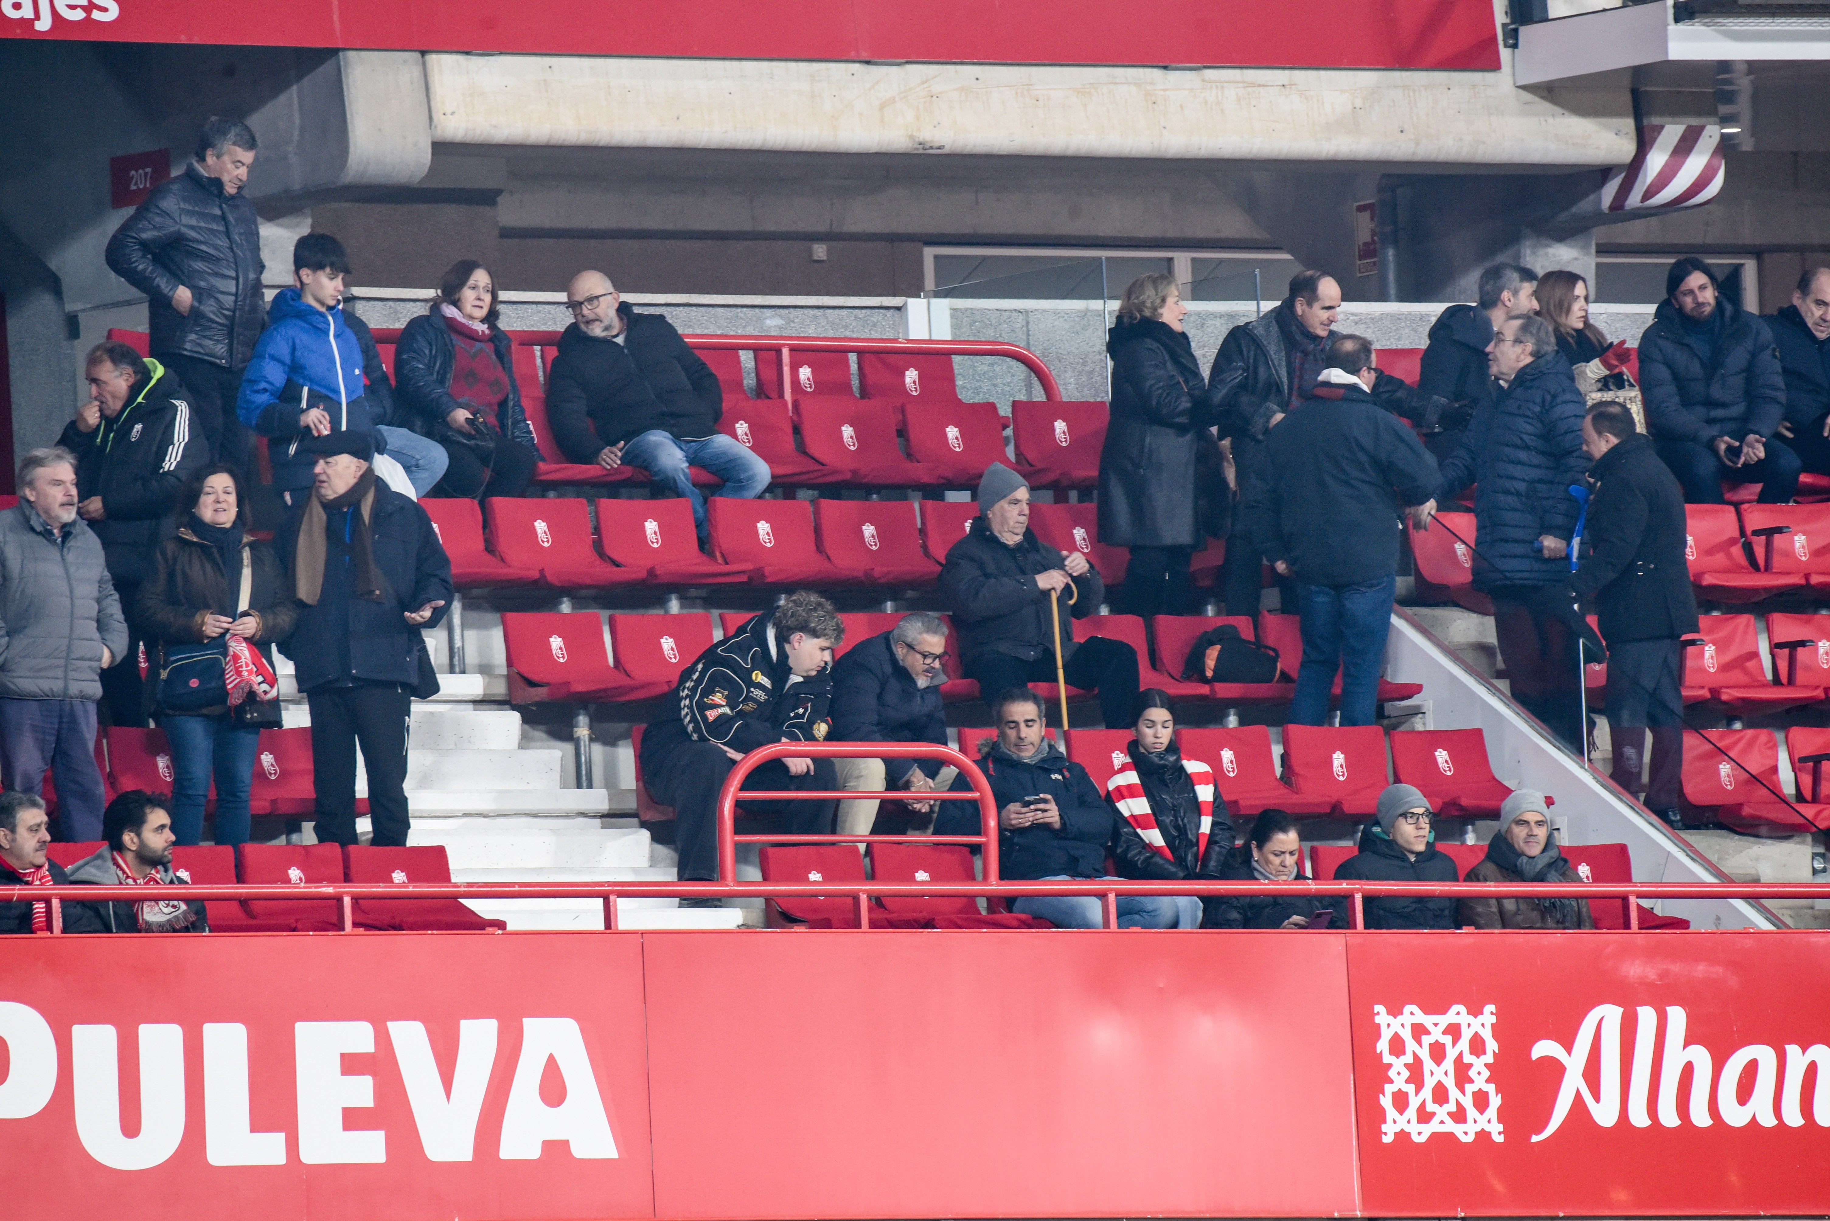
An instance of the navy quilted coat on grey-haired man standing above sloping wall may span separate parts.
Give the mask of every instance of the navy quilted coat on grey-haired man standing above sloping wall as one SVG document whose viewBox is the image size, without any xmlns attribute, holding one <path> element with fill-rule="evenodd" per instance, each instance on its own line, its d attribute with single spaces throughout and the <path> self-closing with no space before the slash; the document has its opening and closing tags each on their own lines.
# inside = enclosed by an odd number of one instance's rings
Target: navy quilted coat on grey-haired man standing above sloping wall
<svg viewBox="0 0 1830 1221">
<path fill-rule="evenodd" d="M 1462 444 L 1442 464 L 1437 501 L 1451 501 L 1469 484 L 1480 484 L 1475 492 L 1477 589 L 1568 579 L 1570 561 L 1548 559 L 1534 552 L 1532 543 L 1545 534 L 1568 543 L 1576 528 L 1570 484 L 1579 484 L 1588 470 L 1585 409 L 1563 353 L 1539 356 L 1475 413 Z"/>
</svg>

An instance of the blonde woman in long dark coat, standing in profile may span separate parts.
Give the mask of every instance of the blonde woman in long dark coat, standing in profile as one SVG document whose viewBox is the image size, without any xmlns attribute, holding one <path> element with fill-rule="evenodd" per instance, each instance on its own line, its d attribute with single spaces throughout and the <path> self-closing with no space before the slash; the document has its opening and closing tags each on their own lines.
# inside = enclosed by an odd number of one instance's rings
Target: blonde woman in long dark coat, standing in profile
<svg viewBox="0 0 1830 1221">
<path fill-rule="evenodd" d="M 1129 547 L 1118 590 L 1124 614 L 1186 614 L 1190 559 L 1208 541 L 1208 510 L 1224 504 L 1217 417 L 1195 349 L 1188 305 L 1164 274 L 1138 276 L 1105 342 L 1113 415 L 1100 450 L 1100 541 Z M 1217 530 L 1224 534 L 1224 528 Z"/>
</svg>

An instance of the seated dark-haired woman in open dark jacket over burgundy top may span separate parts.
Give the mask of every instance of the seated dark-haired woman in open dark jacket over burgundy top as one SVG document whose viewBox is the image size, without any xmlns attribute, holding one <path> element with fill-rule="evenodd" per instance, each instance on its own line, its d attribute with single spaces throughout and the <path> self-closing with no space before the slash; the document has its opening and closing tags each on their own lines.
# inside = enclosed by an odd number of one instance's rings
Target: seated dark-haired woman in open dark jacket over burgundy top
<svg viewBox="0 0 1830 1221">
<path fill-rule="evenodd" d="M 450 455 L 434 488 L 445 495 L 522 495 L 540 464 L 514 380 L 514 344 L 498 316 L 489 269 L 458 260 L 393 351 L 395 393 Z"/>
</svg>

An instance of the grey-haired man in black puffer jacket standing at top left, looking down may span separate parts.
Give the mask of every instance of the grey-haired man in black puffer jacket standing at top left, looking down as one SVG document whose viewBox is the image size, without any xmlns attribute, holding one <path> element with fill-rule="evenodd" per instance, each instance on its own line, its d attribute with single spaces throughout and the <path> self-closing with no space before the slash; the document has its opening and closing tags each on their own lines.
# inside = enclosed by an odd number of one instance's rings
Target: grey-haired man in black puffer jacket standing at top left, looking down
<svg viewBox="0 0 1830 1221">
<path fill-rule="evenodd" d="M 196 161 L 152 188 L 104 254 L 146 294 L 150 351 L 190 389 L 212 457 L 240 472 L 254 451 L 234 398 L 264 316 L 260 218 L 245 190 L 254 150 L 245 122 L 205 122 Z"/>
</svg>

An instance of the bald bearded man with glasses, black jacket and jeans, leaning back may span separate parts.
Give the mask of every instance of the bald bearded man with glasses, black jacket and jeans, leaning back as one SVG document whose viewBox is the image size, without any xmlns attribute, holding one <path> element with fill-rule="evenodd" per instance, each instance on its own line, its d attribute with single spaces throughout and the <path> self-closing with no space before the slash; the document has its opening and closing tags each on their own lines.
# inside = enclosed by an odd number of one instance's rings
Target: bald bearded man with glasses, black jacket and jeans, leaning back
<svg viewBox="0 0 1830 1221">
<path fill-rule="evenodd" d="M 573 276 L 565 307 L 573 324 L 547 378 L 554 442 L 573 462 L 639 466 L 655 486 L 686 497 L 705 547 L 705 497 L 692 486 L 692 468 L 725 481 L 717 495 L 750 499 L 769 488 L 769 462 L 717 431 L 725 413 L 717 375 L 666 316 L 624 305 L 600 271 Z"/>
</svg>

